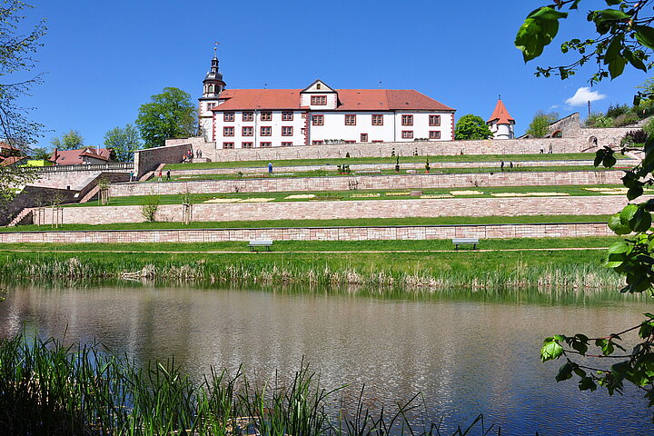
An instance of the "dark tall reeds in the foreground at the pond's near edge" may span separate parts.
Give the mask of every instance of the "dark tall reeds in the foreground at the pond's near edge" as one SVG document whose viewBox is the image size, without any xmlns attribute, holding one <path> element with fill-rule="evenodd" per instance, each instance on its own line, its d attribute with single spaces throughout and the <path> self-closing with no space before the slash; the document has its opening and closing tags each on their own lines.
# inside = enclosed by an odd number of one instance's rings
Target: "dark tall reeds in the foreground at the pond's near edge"
<svg viewBox="0 0 654 436">
<path fill-rule="evenodd" d="M 134 362 L 24 335 L 0 342 L 0 433 L 30 435 L 440 435 L 442 422 L 411 421 L 418 395 L 371 411 L 362 395 L 340 404 L 302 364 L 290 382 L 252 383 L 211 369 L 195 382 L 176 365 Z M 470 431 L 490 434 L 482 417 Z M 497 429 L 500 434 L 500 429 Z"/>
</svg>

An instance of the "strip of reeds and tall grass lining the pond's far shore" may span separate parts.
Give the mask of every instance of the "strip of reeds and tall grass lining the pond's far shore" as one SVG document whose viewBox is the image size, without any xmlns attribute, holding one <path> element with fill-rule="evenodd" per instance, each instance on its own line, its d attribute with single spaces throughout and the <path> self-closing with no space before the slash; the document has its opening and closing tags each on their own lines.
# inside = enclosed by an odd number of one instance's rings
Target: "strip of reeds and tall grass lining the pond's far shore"
<svg viewBox="0 0 654 436">
<path fill-rule="evenodd" d="M 453 287 L 471 289 L 601 289 L 619 288 L 623 278 L 591 263 L 521 263 L 478 268 L 456 264 L 431 264 L 394 268 L 370 264 L 307 262 L 304 259 L 247 262 L 184 262 L 170 258 L 136 259 L 130 253 L 113 262 L 103 256 L 77 257 L 39 254 L 0 256 L 0 276 L 14 279 L 115 279 L 163 280 L 207 283 L 259 283 L 307 285 L 362 285 L 378 292 L 391 288 L 425 288 L 431 292 Z"/>
</svg>

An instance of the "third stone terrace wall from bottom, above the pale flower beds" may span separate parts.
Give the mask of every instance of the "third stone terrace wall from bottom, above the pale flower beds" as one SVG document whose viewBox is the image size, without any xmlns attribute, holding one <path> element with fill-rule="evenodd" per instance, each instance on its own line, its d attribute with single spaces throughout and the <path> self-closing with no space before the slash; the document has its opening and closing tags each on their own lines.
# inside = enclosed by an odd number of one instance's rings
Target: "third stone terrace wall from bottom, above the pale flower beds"
<svg viewBox="0 0 654 436">
<path fill-rule="evenodd" d="M 333 177 L 280 177 L 232 180 L 202 180 L 162 183 L 120 183 L 110 188 L 113 197 L 130 195 L 191 193 L 273 193 L 303 191 L 347 191 L 357 183 L 368 189 L 429 189 L 484 186 L 549 186 L 562 184 L 621 183 L 620 171 L 498 172 L 468 174 L 400 174 Z"/>
</svg>

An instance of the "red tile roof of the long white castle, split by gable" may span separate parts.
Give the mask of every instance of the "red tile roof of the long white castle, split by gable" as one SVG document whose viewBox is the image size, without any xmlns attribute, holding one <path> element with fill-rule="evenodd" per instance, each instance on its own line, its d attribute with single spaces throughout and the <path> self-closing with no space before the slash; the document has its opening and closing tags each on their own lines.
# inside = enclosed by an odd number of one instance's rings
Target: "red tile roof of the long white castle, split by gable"
<svg viewBox="0 0 654 436">
<path fill-rule="evenodd" d="M 216 112 L 261 109 L 302 109 L 301 89 L 228 89 L 219 98 L 227 99 L 213 108 Z M 454 111 L 449 106 L 412 89 L 339 89 L 339 111 L 426 110 Z"/>
</svg>

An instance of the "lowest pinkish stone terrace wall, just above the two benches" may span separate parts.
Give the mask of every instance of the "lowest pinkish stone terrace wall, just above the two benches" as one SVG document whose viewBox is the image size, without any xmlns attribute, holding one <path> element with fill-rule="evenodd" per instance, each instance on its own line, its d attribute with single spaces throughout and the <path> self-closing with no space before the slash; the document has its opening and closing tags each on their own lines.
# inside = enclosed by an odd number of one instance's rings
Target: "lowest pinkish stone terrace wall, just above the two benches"
<svg viewBox="0 0 654 436">
<path fill-rule="evenodd" d="M 369 241 L 461 237 L 560 238 L 613 236 L 606 223 L 312 227 L 80 232 L 0 232 L 0 243 L 217 243 L 226 241 Z M 483 243 L 481 244 L 483 248 Z"/>
</svg>

